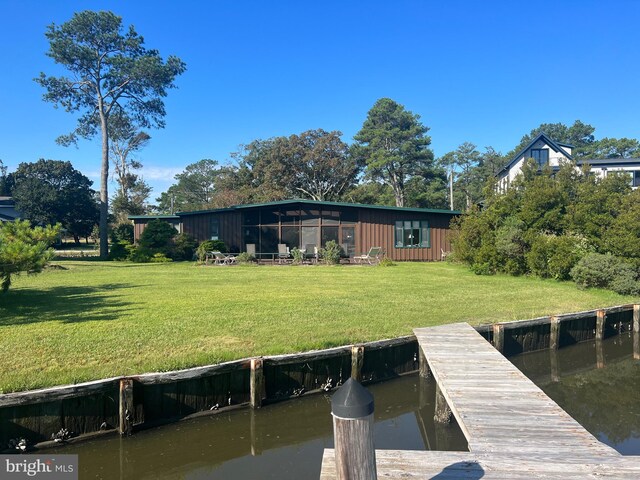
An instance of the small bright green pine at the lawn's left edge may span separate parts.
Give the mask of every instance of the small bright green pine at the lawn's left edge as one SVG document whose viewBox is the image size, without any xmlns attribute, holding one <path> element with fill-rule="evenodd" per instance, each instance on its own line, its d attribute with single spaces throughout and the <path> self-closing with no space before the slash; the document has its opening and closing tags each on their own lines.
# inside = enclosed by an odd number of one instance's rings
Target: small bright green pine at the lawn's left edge
<svg viewBox="0 0 640 480">
<path fill-rule="evenodd" d="M 32 228 L 27 220 L 0 223 L 0 291 L 11 286 L 12 275 L 41 272 L 53 258 L 49 248 L 60 226 Z"/>
</svg>

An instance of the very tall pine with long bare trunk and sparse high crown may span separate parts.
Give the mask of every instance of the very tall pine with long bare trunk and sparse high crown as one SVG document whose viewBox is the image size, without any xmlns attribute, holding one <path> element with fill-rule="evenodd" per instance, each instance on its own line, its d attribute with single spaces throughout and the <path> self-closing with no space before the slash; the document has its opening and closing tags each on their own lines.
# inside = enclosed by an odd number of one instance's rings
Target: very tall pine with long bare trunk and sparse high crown
<svg viewBox="0 0 640 480">
<path fill-rule="evenodd" d="M 163 98 L 185 71 L 185 64 L 174 56 L 165 62 L 157 50 L 145 48 L 134 27 L 123 32 L 122 18 L 112 12 L 75 13 L 62 25 L 51 24 L 45 36 L 47 55 L 70 75 L 41 73 L 36 82 L 46 90 L 43 98 L 67 112 L 83 112 L 77 128 L 58 142 L 68 145 L 78 137 L 92 138 L 98 131 L 102 139 L 100 256 L 106 258 L 110 119 L 126 115 L 142 128 L 164 127 Z"/>
</svg>

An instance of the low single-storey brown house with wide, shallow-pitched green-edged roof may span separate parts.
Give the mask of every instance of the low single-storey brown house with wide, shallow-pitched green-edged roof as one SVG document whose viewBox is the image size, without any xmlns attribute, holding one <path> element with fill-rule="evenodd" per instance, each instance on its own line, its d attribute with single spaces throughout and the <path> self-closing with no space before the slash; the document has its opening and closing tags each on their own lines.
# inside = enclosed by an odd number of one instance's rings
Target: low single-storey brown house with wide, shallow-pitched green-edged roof
<svg viewBox="0 0 640 480">
<path fill-rule="evenodd" d="M 334 240 L 351 257 L 382 247 L 393 260 L 432 261 L 451 250 L 449 223 L 459 214 L 427 208 L 283 200 L 129 219 L 134 222 L 136 241 L 147 222 L 158 218 L 199 242 L 222 240 L 231 252 L 244 252 L 247 244 L 253 244 L 256 254 L 267 258 L 277 254 L 278 244 L 290 249 L 320 248 Z"/>
</svg>

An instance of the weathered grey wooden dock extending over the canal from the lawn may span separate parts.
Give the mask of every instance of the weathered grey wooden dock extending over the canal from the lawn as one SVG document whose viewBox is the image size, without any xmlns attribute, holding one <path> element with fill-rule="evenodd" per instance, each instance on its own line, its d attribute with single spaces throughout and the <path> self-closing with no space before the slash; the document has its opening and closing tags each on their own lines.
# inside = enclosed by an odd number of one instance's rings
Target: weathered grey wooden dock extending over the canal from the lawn
<svg viewBox="0 0 640 480">
<path fill-rule="evenodd" d="M 640 457 L 599 442 L 468 324 L 414 332 L 469 452 L 377 450 L 379 478 L 640 478 Z M 320 478 L 335 478 L 332 450 Z"/>
</svg>

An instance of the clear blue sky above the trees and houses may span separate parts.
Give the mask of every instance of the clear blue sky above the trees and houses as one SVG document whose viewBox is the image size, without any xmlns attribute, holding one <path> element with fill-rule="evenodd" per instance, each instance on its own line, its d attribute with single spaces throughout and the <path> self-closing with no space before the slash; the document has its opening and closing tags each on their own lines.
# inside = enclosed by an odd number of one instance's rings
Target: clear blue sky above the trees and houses
<svg viewBox="0 0 640 480">
<path fill-rule="evenodd" d="M 55 138 L 76 116 L 33 78 L 61 74 L 47 25 L 111 10 L 148 48 L 187 64 L 167 127 L 139 159 L 155 198 L 202 158 L 312 128 L 352 142 L 390 97 L 421 116 L 440 156 L 465 141 L 512 149 L 543 122 L 580 119 L 596 137 L 640 137 L 640 1 L 0 0 L 0 159 L 14 170 L 70 160 L 98 185 L 99 139 Z M 113 187 L 111 188 L 113 190 Z"/>
</svg>

